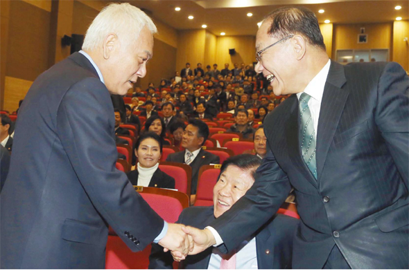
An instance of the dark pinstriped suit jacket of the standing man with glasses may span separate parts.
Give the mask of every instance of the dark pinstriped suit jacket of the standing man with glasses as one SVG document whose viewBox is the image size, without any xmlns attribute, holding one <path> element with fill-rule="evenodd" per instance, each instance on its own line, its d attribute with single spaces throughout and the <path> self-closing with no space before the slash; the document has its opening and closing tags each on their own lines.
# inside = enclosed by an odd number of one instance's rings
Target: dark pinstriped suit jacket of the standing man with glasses
<svg viewBox="0 0 409 271">
<path fill-rule="evenodd" d="M 317 129 L 317 180 L 301 156 L 297 96 L 269 113 L 269 149 L 256 182 L 211 224 L 223 247 L 232 250 L 252 234 L 294 187 L 302 223 L 293 268 L 322 268 L 338 245 L 351 268 L 407 269 L 408 88 L 399 64 L 331 62 Z"/>
</svg>

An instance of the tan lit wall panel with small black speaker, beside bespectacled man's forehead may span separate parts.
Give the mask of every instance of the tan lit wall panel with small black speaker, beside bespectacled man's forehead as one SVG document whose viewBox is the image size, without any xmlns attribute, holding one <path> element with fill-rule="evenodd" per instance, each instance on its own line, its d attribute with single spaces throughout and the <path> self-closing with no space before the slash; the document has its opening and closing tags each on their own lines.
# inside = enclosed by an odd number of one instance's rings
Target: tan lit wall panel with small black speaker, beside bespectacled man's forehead
<svg viewBox="0 0 409 271">
<path fill-rule="evenodd" d="M 216 46 L 216 63 L 219 69 L 225 68 L 225 63 L 229 63 L 229 68 L 237 62 L 246 65 L 256 61 L 256 37 L 254 36 L 231 36 L 218 37 Z M 229 55 L 229 48 L 236 49 L 236 55 Z"/>
</svg>

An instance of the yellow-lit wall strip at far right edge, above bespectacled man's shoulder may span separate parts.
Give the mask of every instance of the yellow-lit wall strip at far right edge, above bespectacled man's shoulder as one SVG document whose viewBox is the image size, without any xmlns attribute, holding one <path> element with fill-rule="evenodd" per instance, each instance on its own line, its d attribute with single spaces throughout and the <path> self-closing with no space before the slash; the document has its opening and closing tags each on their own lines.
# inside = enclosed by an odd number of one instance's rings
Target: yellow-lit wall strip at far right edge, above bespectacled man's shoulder
<svg viewBox="0 0 409 271">
<path fill-rule="evenodd" d="M 406 41 L 403 39 L 406 38 Z M 393 24 L 393 56 L 392 61 L 398 62 L 409 72 L 409 21 L 394 21 Z"/>
</svg>

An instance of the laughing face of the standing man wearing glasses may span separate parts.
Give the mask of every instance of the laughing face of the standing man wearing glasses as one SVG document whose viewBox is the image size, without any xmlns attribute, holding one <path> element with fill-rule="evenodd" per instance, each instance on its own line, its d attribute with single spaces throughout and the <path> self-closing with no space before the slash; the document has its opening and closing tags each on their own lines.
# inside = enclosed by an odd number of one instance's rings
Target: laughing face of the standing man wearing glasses
<svg viewBox="0 0 409 271">
<path fill-rule="evenodd" d="M 270 24 L 271 20 L 264 21 L 257 31 L 257 52 L 280 40 L 268 35 L 267 32 Z M 297 76 L 294 76 L 299 71 L 296 68 L 295 48 L 292 45 L 292 38 L 289 38 L 268 48 L 261 53 L 261 62 L 258 62 L 256 65 L 255 71 L 263 73 L 264 77 L 270 81 L 270 86 L 272 86 L 275 95 L 285 95 L 300 91 L 297 89 Z"/>
</svg>

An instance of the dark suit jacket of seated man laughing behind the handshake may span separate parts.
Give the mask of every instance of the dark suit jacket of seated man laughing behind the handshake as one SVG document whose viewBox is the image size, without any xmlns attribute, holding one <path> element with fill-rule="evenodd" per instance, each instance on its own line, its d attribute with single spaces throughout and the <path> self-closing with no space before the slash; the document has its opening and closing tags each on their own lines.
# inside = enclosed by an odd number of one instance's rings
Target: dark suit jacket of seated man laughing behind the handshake
<svg viewBox="0 0 409 271">
<path fill-rule="evenodd" d="M 177 223 L 202 229 L 214 221 L 214 207 L 189 207 L 182 211 Z M 283 214 L 276 214 L 256 233 L 256 254 L 258 269 L 291 268 L 293 236 L 299 220 Z M 149 268 L 172 269 L 173 258 L 163 252 L 163 247 L 152 245 Z M 182 261 L 186 269 L 207 269 L 213 247 L 204 252 L 187 256 Z M 268 251 L 268 254 L 266 253 Z"/>
</svg>

